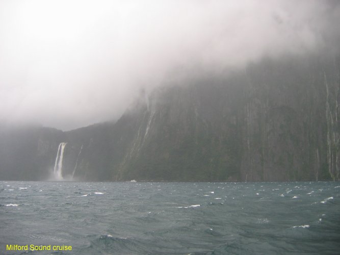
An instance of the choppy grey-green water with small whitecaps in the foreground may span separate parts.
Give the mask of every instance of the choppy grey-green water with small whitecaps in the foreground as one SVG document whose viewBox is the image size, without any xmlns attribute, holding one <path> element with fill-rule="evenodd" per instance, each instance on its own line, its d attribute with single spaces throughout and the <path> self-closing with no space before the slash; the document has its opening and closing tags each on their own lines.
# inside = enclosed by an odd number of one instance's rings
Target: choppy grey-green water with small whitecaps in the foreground
<svg viewBox="0 0 340 255">
<path fill-rule="evenodd" d="M 0 205 L 0 254 L 340 253 L 334 182 L 0 182 Z"/>
</svg>

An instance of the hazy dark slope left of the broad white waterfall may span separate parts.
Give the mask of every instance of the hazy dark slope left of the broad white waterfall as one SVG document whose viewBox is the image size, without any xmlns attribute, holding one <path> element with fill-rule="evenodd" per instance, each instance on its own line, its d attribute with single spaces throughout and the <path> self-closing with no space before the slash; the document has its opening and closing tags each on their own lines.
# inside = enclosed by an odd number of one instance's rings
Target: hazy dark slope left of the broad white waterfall
<svg viewBox="0 0 340 255">
<path fill-rule="evenodd" d="M 46 180 L 53 171 L 62 131 L 0 126 L 0 180 Z"/>
</svg>

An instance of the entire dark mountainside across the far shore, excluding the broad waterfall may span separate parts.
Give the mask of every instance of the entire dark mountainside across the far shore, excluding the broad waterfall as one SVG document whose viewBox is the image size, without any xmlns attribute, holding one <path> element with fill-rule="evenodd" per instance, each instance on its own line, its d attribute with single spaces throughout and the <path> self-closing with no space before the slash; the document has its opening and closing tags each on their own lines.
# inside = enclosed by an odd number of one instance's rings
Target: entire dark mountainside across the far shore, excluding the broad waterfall
<svg viewBox="0 0 340 255">
<path fill-rule="evenodd" d="M 115 123 L 4 127 L 0 179 L 47 179 L 67 142 L 76 180 L 339 180 L 339 75 L 339 57 L 264 59 L 164 86 Z"/>
</svg>

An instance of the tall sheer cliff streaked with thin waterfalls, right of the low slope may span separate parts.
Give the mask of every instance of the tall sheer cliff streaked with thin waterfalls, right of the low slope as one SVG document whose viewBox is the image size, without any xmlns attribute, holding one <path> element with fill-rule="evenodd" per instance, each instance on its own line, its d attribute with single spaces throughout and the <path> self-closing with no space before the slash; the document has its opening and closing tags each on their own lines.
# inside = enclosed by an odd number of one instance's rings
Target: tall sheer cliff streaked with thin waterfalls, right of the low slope
<svg viewBox="0 0 340 255">
<path fill-rule="evenodd" d="M 315 56 L 155 92 L 115 180 L 338 180 L 339 95 L 339 59 Z"/>
</svg>

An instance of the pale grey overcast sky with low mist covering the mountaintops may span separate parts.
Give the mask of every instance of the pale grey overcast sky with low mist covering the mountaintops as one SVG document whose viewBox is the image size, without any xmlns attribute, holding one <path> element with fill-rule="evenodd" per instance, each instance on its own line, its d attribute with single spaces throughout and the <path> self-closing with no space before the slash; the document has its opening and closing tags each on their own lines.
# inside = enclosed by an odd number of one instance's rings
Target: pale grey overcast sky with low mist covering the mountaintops
<svg viewBox="0 0 340 255">
<path fill-rule="evenodd" d="M 169 72 L 338 43 L 337 1 L 0 0 L 0 121 L 118 118 Z"/>
</svg>

